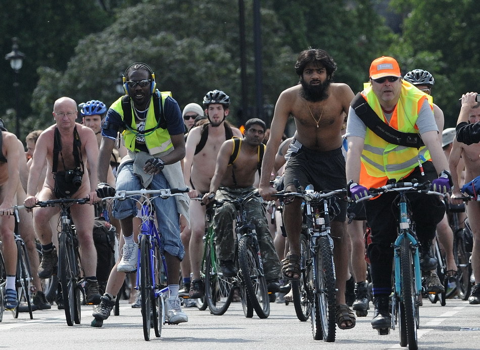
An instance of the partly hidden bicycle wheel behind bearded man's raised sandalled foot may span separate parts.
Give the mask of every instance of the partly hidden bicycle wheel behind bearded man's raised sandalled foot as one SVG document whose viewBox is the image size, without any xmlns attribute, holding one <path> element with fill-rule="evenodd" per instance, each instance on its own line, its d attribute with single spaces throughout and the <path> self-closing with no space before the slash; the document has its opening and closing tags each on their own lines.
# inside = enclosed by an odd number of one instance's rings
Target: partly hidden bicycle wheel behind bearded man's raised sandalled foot
<svg viewBox="0 0 480 350">
<path fill-rule="evenodd" d="M 308 260 L 308 241 L 304 235 L 300 238 L 300 251 L 301 251 L 301 269 L 302 274 L 299 280 L 291 281 L 292 293 L 294 299 L 295 313 L 297 318 L 305 322 L 310 317 L 311 306 L 307 296 L 307 279 L 306 279 L 306 262 Z"/>
</svg>

